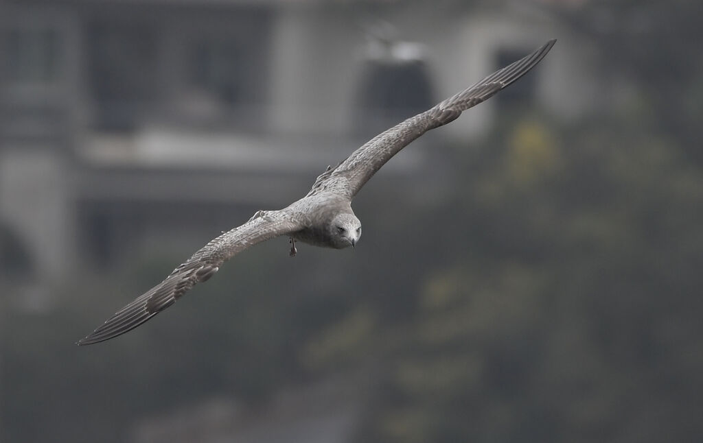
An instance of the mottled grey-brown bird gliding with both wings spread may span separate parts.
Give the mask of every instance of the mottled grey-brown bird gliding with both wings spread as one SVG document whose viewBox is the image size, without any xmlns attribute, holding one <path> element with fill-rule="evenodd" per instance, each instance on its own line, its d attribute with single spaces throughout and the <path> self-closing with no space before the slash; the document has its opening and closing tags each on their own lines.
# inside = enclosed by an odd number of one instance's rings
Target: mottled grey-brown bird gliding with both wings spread
<svg viewBox="0 0 703 443">
<path fill-rule="evenodd" d="M 354 247 L 361 237 L 361 222 L 352 211 L 352 199 L 373 174 L 415 138 L 448 124 L 462 111 L 520 79 L 547 55 L 555 42 L 548 41 L 533 53 L 432 109 L 376 135 L 337 166 L 328 166 L 305 197 L 278 211 L 257 211 L 243 225 L 213 239 L 176 267 L 163 282 L 117 311 L 77 344 L 98 343 L 136 328 L 176 303 L 195 284 L 206 282 L 226 260 L 264 240 L 282 235 L 290 237 L 291 256 L 297 251 L 296 241 L 334 249 Z"/>
</svg>

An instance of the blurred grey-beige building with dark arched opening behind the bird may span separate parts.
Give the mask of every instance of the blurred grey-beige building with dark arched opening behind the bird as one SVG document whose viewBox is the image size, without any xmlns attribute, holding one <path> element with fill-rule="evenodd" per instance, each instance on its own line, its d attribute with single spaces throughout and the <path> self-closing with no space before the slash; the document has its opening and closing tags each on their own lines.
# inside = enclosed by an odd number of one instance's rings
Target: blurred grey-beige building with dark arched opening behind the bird
<svg viewBox="0 0 703 443">
<path fill-rule="evenodd" d="M 0 259 L 51 282 L 207 241 L 549 38 L 538 70 L 433 137 L 470 140 L 517 103 L 591 110 L 579 37 L 541 4 L 496 3 L 0 1 Z M 441 168 L 429 154 L 384 176 Z"/>
</svg>

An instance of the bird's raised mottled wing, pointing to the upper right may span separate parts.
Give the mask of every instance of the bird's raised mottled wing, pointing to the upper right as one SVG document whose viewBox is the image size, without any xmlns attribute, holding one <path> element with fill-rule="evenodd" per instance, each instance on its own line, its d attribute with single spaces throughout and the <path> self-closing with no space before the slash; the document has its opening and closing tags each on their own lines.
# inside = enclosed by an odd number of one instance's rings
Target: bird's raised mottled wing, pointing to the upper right
<svg viewBox="0 0 703 443">
<path fill-rule="evenodd" d="M 354 151 L 336 168 L 328 168 L 318 177 L 309 195 L 318 190 L 331 189 L 341 192 L 351 199 L 361 187 L 401 149 L 415 138 L 430 129 L 453 121 L 462 111 L 482 103 L 492 95 L 508 87 L 524 74 L 527 74 L 544 58 L 554 46 L 556 40 L 550 40 L 541 48 L 517 62 L 494 72 L 477 84 L 470 86 L 451 98 L 444 100 L 432 109 L 411 117 L 406 121 L 376 135 L 365 145 Z"/>
</svg>

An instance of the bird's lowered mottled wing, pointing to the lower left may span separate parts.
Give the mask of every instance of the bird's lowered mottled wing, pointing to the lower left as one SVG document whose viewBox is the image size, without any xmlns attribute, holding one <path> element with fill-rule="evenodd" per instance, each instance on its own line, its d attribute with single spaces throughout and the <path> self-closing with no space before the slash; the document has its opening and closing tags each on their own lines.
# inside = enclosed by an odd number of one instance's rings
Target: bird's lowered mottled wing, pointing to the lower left
<svg viewBox="0 0 703 443">
<path fill-rule="evenodd" d="M 290 211 L 259 211 L 247 223 L 224 232 L 176 267 L 166 279 L 117 311 L 78 345 L 109 340 L 136 328 L 162 310 L 176 303 L 196 283 L 212 277 L 226 260 L 264 240 L 299 230 Z"/>
</svg>

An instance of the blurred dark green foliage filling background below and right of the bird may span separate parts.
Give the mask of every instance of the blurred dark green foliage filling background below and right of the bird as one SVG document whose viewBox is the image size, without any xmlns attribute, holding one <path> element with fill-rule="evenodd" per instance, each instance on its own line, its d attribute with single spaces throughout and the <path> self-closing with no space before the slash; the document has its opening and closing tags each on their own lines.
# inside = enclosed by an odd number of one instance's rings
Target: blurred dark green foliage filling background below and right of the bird
<svg viewBox="0 0 703 443">
<path fill-rule="evenodd" d="M 5 315 L 0 437 L 125 441 L 144 417 L 202 398 L 258 404 L 371 368 L 358 441 L 695 441 L 703 66 L 698 3 L 675 4 L 576 10 L 628 102 L 572 126 L 498 122 L 481 146 L 442 152 L 463 173 L 426 206 L 375 179 L 355 201 L 355 251 L 302 245 L 290 259 L 285 239 L 267 242 L 89 348 L 73 343 L 183 251 L 82 275 L 51 314 Z"/>
</svg>

